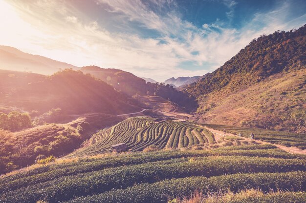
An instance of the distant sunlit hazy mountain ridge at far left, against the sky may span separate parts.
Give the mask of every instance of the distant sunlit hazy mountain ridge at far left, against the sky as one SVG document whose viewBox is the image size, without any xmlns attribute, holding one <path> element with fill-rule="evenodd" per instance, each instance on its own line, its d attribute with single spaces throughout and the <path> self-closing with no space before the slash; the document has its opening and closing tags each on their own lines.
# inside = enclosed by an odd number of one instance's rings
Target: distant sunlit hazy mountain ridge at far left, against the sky
<svg viewBox="0 0 306 203">
<path fill-rule="evenodd" d="M 76 66 L 44 56 L 24 53 L 14 47 L 0 46 L 0 69 L 54 74 L 66 68 L 79 69 Z"/>
</svg>

